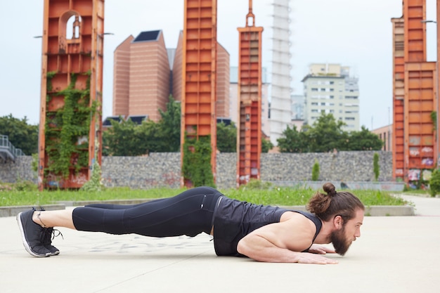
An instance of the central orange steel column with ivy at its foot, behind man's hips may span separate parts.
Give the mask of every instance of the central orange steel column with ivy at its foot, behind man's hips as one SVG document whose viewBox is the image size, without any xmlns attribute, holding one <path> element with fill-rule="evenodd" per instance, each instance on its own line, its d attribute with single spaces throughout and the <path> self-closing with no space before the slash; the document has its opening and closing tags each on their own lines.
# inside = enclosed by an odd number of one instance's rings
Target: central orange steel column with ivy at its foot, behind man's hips
<svg viewBox="0 0 440 293">
<path fill-rule="evenodd" d="M 181 100 L 181 157 L 188 138 L 211 138 L 211 166 L 216 178 L 216 0 L 185 0 Z M 187 178 L 181 185 L 190 186 Z"/>
</svg>

